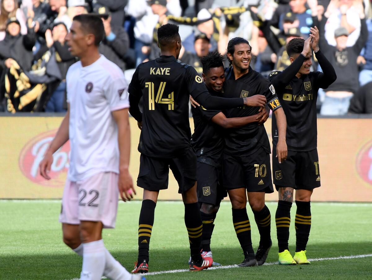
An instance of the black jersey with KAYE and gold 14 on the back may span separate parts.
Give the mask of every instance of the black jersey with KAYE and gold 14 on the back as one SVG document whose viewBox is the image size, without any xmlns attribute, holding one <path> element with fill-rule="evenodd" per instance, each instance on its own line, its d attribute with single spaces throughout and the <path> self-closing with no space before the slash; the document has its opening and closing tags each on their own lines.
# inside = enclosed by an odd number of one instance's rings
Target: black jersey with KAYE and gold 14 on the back
<svg viewBox="0 0 372 280">
<path fill-rule="evenodd" d="M 128 92 L 143 96 L 138 151 L 161 158 L 184 155 L 191 146 L 189 96 L 208 93 L 196 70 L 173 56 L 161 55 L 137 67 Z"/>
</svg>

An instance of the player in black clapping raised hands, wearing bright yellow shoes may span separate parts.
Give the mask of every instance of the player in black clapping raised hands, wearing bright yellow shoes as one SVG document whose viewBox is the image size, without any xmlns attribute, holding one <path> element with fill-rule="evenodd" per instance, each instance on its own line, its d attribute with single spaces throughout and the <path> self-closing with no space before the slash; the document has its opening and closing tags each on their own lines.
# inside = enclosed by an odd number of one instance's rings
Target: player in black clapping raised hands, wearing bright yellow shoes
<svg viewBox="0 0 372 280">
<path fill-rule="evenodd" d="M 286 140 L 288 157 L 279 164 L 275 159 L 278 144 L 278 127 L 273 117 L 273 178 L 279 192 L 275 214 L 279 245 L 279 264 L 310 264 L 305 255 L 311 227 L 310 198 L 314 188 L 320 187 L 319 159 L 317 152 L 317 93 L 336 80 L 336 72 L 319 50 L 318 28 L 310 28 L 310 37 L 304 41 L 289 41 L 286 50 L 291 65 L 284 71 L 274 71 L 269 80 L 275 87 L 287 117 Z M 323 69 L 310 72 L 311 48 Z M 296 190 L 296 252 L 292 258 L 288 251 L 290 210 Z"/>
</svg>

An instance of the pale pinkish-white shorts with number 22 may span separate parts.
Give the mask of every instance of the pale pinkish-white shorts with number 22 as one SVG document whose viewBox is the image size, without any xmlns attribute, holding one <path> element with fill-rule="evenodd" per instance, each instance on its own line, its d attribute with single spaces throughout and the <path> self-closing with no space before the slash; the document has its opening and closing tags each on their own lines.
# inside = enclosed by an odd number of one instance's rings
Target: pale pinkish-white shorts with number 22
<svg viewBox="0 0 372 280">
<path fill-rule="evenodd" d="M 118 211 L 119 175 L 101 172 L 83 181 L 66 180 L 60 222 L 79 225 L 80 221 L 102 222 L 114 228 Z"/>
</svg>

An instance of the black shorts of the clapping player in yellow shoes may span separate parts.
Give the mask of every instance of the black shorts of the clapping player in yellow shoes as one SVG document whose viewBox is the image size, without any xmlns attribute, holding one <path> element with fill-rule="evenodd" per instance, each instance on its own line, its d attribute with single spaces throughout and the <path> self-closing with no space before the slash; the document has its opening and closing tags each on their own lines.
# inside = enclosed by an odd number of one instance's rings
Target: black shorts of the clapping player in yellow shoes
<svg viewBox="0 0 372 280">
<path fill-rule="evenodd" d="M 288 150 L 287 159 L 279 163 L 276 146 L 273 146 L 273 178 L 276 190 L 290 187 L 312 190 L 320 187 L 319 158 L 317 149 L 308 152 Z"/>
</svg>

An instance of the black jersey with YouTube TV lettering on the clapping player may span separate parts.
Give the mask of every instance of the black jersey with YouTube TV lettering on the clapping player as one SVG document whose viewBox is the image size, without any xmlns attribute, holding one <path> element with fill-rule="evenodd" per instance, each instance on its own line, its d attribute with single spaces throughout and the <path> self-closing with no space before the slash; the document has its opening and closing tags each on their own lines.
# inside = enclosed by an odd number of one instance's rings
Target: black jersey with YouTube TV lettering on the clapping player
<svg viewBox="0 0 372 280">
<path fill-rule="evenodd" d="M 275 77 L 281 73 L 274 71 L 269 80 L 275 85 Z M 285 87 L 276 86 L 280 104 L 287 119 L 286 142 L 288 150 L 311 151 L 317 147 L 317 79 L 321 72 L 310 72 L 301 78 L 294 77 Z M 273 144 L 278 144 L 278 127 L 272 118 Z"/>
</svg>

